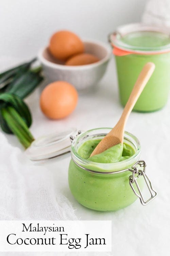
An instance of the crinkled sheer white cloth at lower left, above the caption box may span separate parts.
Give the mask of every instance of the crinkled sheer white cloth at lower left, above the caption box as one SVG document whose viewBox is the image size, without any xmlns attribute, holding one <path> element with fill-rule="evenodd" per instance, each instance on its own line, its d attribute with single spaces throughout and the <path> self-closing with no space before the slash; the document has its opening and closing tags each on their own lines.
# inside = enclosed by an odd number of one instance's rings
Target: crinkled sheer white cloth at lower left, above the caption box
<svg viewBox="0 0 170 256">
<path fill-rule="evenodd" d="M 53 175 L 34 165 L 0 132 L 0 220 L 76 220 L 69 200 L 57 191 Z"/>
</svg>

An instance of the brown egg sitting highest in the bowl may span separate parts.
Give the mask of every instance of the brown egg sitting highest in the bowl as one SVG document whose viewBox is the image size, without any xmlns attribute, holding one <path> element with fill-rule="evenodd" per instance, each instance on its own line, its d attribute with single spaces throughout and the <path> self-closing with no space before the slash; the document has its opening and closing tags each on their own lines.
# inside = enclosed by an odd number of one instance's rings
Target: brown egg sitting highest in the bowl
<svg viewBox="0 0 170 256">
<path fill-rule="evenodd" d="M 61 30 L 52 35 L 49 50 L 55 58 L 65 61 L 75 54 L 83 53 L 84 44 L 76 34 Z"/>
</svg>

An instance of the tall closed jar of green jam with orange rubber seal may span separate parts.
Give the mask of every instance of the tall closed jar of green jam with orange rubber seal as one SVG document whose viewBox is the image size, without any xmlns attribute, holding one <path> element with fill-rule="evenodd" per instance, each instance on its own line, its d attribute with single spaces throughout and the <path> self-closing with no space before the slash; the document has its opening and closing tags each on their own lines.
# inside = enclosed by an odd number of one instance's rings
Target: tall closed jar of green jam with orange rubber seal
<svg viewBox="0 0 170 256">
<path fill-rule="evenodd" d="M 170 34 L 165 28 L 130 24 L 109 36 L 116 59 L 120 101 L 125 106 L 137 77 L 147 62 L 155 71 L 143 89 L 134 109 L 151 112 L 163 108 L 170 86 Z"/>
</svg>

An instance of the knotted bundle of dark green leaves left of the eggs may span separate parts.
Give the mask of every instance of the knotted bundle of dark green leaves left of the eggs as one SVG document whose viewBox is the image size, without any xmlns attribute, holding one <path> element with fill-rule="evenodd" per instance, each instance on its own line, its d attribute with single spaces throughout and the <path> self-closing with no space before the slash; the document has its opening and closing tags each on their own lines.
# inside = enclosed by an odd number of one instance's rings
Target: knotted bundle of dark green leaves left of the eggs
<svg viewBox="0 0 170 256">
<path fill-rule="evenodd" d="M 22 99 L 43 80 L 41 67 L 30 70 L 35 60 L 0 74 L 0 126 L 4 132 L 14 133 L 26 148 L 34 138 L 29 131 L 31 113 Z"/>
</svg>

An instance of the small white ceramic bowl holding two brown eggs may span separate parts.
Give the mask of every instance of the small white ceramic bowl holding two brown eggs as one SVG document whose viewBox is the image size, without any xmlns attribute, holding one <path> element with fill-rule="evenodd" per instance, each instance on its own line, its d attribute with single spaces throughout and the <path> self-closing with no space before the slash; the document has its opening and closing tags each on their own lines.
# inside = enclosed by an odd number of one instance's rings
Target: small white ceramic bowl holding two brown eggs
<svg viewBox="0 0 170 256">
<path fill-rule="evenodd" d="M 51 56 L 48 47 L 39 51 L 38 59 L 49 82 L 67 81 L 78 90 L 89 89 L 99 82 L 106 71 L 111 48 L 98 41 L 84 41 L 84 45 L 85 52 L 96 55 L 100 61 L 82 66 L 65 66 Z"/>
</svg>

